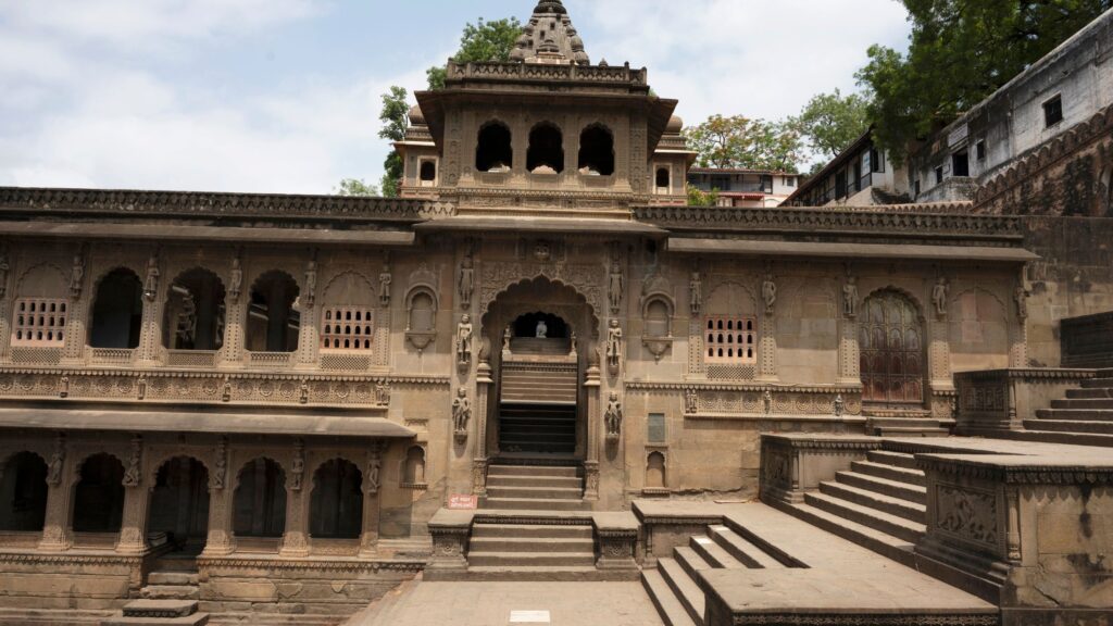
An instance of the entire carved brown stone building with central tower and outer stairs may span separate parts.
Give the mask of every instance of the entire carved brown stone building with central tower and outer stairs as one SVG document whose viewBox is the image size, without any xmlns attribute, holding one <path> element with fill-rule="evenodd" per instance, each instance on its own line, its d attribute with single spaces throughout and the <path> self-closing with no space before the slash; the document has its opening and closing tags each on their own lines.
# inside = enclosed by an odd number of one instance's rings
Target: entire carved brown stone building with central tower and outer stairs
<svg viewBox="0 0 1113 626">
<path fill-rule="evenodd" d="M 0 188 L 0 623 L 338 624 L 424 571 L 1105 624 L 1110 21 L 1100 106 L 973 202 L 687 206 L 677 100 L 559 0 L 416 94 L 402 198 Z"/>
</svg>

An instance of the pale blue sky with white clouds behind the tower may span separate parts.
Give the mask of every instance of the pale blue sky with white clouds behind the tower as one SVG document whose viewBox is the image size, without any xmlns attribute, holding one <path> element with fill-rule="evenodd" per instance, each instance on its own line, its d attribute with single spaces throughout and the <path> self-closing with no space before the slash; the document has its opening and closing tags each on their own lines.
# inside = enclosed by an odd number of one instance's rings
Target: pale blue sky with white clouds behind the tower
<svg viewBox="0 0 1113 626">
<path fill-rule="evenodd" d="M 377 182 L 380 95 L 533 0 L 0 2 L 0 185 L 329 193 Z M 856 88 L 896 0 L 565 0 L 592 60 L 648 67 L 688 123 Z"/>
</svg>

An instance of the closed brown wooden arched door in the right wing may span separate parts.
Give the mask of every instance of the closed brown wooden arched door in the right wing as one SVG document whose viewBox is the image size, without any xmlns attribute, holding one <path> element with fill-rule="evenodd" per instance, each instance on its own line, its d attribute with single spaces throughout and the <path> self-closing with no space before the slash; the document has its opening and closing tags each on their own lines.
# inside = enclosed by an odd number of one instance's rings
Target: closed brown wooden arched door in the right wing
<svg viewBox="0 0 1113 626">
<path fill-rule="evenodd" d="M 859 320 L 863 401 L 924 403 L 924 322 L 905 294 L 884 290 L 866 299 Z"/>
</svg>

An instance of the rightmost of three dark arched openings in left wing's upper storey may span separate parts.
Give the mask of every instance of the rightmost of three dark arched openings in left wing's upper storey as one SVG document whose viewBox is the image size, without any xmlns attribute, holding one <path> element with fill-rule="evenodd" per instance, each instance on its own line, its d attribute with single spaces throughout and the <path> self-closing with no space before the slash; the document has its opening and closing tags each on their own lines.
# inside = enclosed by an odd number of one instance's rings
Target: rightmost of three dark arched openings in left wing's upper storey
<svg viewBox="0 0 1113 626">
<path fill-rule="evenodd" d="M 302 329 L 302 314 L 294 309 L 299 290 L 285 272 L 267 272 L 252 285 L 247 310 L 247 350 L 294 352 Z"/>
</svg>

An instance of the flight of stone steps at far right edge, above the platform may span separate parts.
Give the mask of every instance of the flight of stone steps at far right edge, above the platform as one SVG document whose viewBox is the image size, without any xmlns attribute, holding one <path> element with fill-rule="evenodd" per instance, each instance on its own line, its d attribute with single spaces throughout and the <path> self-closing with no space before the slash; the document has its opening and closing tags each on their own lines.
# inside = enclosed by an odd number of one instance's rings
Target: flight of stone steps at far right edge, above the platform
<svg viewBox="0 0 1113 626">
<path fill-rule="evenodd" d="M 1113 370 L 1082 381 L 1066 398 L 1052 400 L 1051 409 L 1038 409 L 1024 420 L 1020 439 L 1048 443 L 1113 447 Z"/>
</svg>

